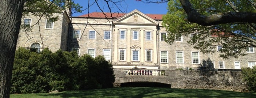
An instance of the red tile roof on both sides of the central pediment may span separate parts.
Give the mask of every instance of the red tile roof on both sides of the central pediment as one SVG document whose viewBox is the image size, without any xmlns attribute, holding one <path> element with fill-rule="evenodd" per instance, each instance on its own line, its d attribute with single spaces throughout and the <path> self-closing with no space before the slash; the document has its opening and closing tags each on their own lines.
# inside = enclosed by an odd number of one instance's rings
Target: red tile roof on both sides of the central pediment
<svg viewBox="0 0 256 98">
<path fill-rule="evenodd" d="M 92 12 L 92 13 L 81 15 L 78 17 L 88 17 L 89 16 L 90 18 L 119 18 L 121 16 L 124 16 L 125 14 L 126 13 L 112 13 L 112 17 L 111 17 L 110 12 L 105 13 L 106 16 L 102 12 Z M 164 14 L 146 14 L 146 15 L 155 20 L 162 20 L 162 17 Z"/>
</svg>

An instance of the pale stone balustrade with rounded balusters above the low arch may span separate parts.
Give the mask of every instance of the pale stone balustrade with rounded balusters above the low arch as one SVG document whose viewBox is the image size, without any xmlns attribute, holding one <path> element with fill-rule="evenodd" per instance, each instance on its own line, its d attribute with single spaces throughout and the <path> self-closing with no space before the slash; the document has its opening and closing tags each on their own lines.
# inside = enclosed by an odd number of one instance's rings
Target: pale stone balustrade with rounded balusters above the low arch
<svg viewBox="0 0 256 98">
<path fill-rule="evenodd" d="M 165 70 L 159 70 L 159 69 L 126 69 L 126 75 L 165 76 Z"/>
</svg>

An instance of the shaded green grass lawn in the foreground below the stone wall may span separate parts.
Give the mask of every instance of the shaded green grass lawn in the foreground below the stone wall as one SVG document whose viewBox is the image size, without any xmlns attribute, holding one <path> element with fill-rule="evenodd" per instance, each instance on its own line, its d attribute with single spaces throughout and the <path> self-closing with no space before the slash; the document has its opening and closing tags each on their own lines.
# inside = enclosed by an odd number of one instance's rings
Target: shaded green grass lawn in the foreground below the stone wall
<svg viewBox="0 0 256 98">
<path fill-rule="evenodd" d="M 11 94 L 10 98 L 255 98 L 256 93 L 153 87 L 115 87 L 59 93 Z"/>
</svg>

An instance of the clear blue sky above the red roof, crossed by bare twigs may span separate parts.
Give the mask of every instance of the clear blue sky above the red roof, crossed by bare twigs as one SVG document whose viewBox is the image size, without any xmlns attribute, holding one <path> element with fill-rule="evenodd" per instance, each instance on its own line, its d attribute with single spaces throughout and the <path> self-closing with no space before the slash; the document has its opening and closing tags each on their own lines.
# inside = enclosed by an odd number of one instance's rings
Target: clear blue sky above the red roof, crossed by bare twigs
<svg viewBox="0 0 256 98">
<path fill-rule="evenodd" d="M 90 2 L 88 2 L 90 1 Z M 104 0 L 99 0 L 98 3 L 101 8 L 104 7 L 104 12 L 110 12 L 108 10 L 107 4 L 103 3 Z M 120 0 L 112 0 L 112 1 L 120 1 Z M 142 0 L 143 1 L 143 0 Z M 141 11 L 144 14 L 166 14 L 167 13 L 167 3 L 157 4 L 157 3 L 143 3 L 142 1 L 136 1 L 136 0 L 124 0 L 122 4 L 116 3 L 121 11 L 124 13 L 128 13 L 133 11 L 134 9 L 137 9 Z M 88 7 L 88 3 L 92 4 L 94 0 L 75 0 L 75 3 L 80 4 L 83 6 L 82 10 L 84 10 L 82 13 L 75 13 L 73 16 L 79 16 L 84 15 L 88 13 L 88 9 L 85 9 Z M 112 5 L 112 4 L 110 4 Z M 112 12 L 121 12 L 116 7 L 111 8 Z M 89 12 L 101 12 L 99 7 L 96 3 L 92 4 L 90 6 Z"/>
</svg>

